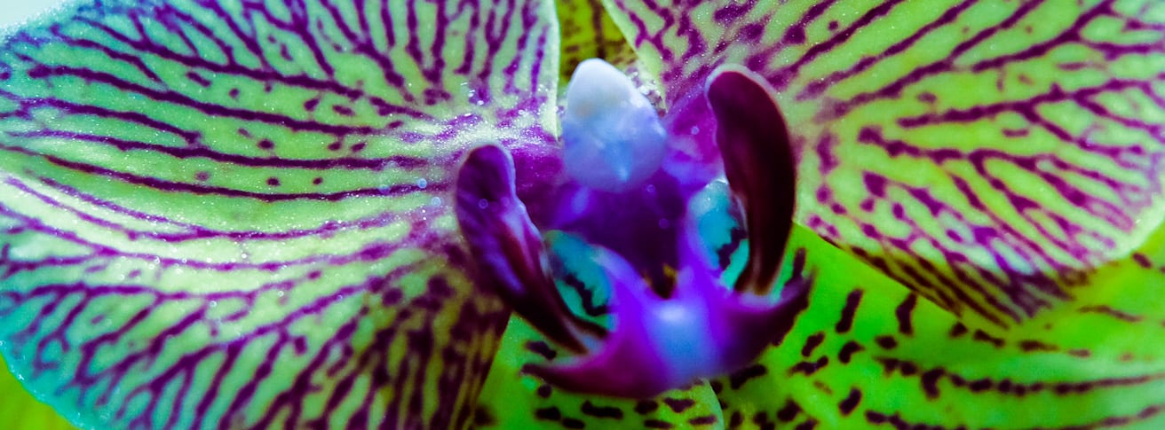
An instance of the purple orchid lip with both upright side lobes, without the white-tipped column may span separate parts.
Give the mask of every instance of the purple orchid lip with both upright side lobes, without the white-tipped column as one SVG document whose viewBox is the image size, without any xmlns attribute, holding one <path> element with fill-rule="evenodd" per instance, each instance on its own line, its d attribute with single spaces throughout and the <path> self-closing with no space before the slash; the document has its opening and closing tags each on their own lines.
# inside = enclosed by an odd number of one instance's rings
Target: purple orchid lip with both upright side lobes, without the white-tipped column
<svg viewBox="0 0 1165 430">
<path fill-rule="evenodd" d="M 812 275 L 802 277 L 804 258 L 798 256 L 796 273 L 777 302 L 762 298 L 781 268 L 795 199 L 792 150 L 769 94 L 763 79 L 743 69 L 721 67 L 705 86 L 725 174 L 750 238 L 744 272 L 734 287 L 723 285 L 721 268 L 701 253 L 702 239 L 683 210 L 659 218 L 675 223 L 661 230 L 662 222 L 638 216 L 657 213 L 651 206 L 658 201 L 638 199 L 635 189 L 594 189 L 578 182 L 560 188 L 569 196 L 569 222 L 551 227 L 599 238 L 591 243 L 600 251 L 589 258 L 610 285 L 610 332 L 567 310 L 545 270 L 548 256 L 537 229 L 514 194 L 513 166 L 504 152 L 486 146 L 469 153 L 459 175 L 457 216 L 485 281 L 496 285 L 502 299 L 551 341 L 584 353 L 565 364 L 529 365 L 529 373 L 569 390 L 645 397 L 743 367 L 784 337 L 793 316 L 807 307 Z M 564 159 L 567 165 L 578 162 Z M 693 196 L 684 187 L 655 189 L 655 184 L 668 184 L 668 172 L 683 171 L 661 167 L 669 166 L 655 167 L 650 178 L 656 179 L 643 184 L 662 192 L 662 201 L 687 205 Z M 619 223 L 629 225 L 615 229 L 615 235 L 593 231 Z M 671 273 L 669 294 L 655 288 L 658 279 L 652 273 L 659 267 L 644 266 L 652 261 L 638 255 L 644 248 L 635 244 L 643 242 L 652 242 L 647 249 L 671 248 L 659 255 L 671 257 L 654 261 Z M 584 345 L 591 342 L 585 341 L 595 338 L 599 346 L 588 351 Z"/>
</svg>

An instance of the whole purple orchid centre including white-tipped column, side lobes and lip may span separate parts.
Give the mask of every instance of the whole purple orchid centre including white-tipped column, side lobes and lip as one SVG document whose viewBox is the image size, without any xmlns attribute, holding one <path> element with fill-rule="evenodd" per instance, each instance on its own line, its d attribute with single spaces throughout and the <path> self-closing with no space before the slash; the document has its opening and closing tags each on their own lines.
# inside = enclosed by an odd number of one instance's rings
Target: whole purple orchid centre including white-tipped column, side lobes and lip
<svg viewBox="0 0 1165 430">
<path fill-rule="evenodd" d="M 516 196 L 504 150 L 488 145 L 466 157 L 457 216 L 481 284 L 578 353 L 530 373 L 570 390 L 651 396 L 748 365 L 807 306 L 812 280 L 799 275 L 776 302 L 767 299 L 795 195 L 792 150 L 771 91 L 732 67 L 701 89 L 704 102 L 692 106 L 714 120 L 715 166 L 689 165 L 708 162 L 685 156 L 668 130 L 680 112 L 659 119 L 619 70 L 584 62 L 562 117 L 567 178 L 546 196 L 552 215 L 537 224 Z M 709 202 L 739 205 L 743 217 L 748 258 L 733 284 L 704 239 Z M 609 323 L 571 310 L 558 287 L 570 282 L 605 293 Z"/>
</svg>

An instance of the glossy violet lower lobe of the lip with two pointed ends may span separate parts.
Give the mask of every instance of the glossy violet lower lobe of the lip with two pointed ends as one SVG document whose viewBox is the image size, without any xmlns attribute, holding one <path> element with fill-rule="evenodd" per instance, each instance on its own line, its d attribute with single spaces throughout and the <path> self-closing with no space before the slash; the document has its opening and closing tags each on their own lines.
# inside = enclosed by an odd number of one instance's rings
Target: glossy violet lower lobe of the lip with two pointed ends
<svg viewBox="0 0 1165 430">
<path fill-rule="evenodd" d="M 563 365 L 527 365 L 524 371 L 567 390 L 634 399 L 736 371 L 783 339 L 795 316 L 809 307 L 813 278 L 800 275 L 804 260 L 804 255 L 797 256 L 797 274 L 776 304 L 751 303 L 753 298 L 729 292 L 698 265 L 680 274 L 669 299 L 622 278 L 615 282 L 620 325 L 601 350 Z"/>
</svg>

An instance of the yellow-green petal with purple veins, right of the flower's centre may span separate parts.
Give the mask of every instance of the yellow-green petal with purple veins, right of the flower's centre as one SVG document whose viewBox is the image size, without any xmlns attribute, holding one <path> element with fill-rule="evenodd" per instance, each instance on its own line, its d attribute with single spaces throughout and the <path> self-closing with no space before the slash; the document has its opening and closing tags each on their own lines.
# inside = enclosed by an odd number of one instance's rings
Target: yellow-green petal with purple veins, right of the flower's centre
<svg viewBox="0 0 1165 430">
<path fill-rule="evenodd" d="M 669 102 L 764 76 L 797 221 L 970 324 L 1059 308 L 1165 213 L 1155 1 L 615 6 Z"/>
</svg>

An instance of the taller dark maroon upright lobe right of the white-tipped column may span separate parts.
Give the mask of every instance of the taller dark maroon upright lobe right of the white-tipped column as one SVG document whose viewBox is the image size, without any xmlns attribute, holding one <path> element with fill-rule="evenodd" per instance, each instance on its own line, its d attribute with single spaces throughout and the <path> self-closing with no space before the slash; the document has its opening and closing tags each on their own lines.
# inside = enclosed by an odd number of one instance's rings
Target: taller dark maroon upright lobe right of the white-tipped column
<svg viewBox="0 0 1165 430">
<path fill-rule="evenodd" d="M 708 78 L 706 88 L 725 174 L 744 207 L 749 236 L 748 264 L 735 289 L 765 294 L 781 270 L 797 200 L 789 130 L 762 77 L 722 70 Z"/>
</svg>

